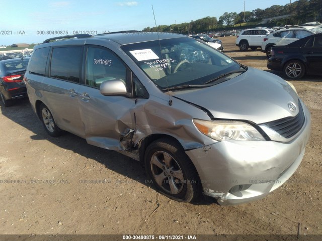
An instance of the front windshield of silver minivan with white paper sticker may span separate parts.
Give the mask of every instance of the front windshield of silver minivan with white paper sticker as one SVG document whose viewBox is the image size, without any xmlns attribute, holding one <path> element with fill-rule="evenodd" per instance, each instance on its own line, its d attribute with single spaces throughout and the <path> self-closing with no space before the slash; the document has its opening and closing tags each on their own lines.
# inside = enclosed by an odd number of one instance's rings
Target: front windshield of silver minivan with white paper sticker
<svg viewBox="0 0 322 241">
<path fill-rule="evenodd" d="M 163 91 L 176 86 L 203 85 L 240 69 L 229 57 L 193 38 L 148 41 L 121 48 Z"/>
</svg>

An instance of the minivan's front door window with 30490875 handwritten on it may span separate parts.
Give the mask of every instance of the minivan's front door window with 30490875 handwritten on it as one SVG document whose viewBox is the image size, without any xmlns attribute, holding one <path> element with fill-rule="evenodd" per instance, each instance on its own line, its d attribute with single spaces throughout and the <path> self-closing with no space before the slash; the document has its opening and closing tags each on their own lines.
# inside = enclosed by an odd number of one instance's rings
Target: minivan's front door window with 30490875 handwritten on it
<svg viewBox="0 0 322 241">
<path fill-rule="evenodd" d="M 86 85 L 100 88 L 104 81 L 120 79 L 126 81 L 126 68 L 111 51 L 88 47 L 86 58 Z"/>
</svg>

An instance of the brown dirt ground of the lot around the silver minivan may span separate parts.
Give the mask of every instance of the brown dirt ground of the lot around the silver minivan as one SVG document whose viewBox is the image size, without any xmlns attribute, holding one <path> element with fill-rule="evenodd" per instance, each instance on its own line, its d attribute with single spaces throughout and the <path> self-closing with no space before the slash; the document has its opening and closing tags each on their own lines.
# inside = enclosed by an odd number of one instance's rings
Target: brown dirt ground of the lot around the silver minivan
<svg viewBox="0 0 322 241">
<path fill-rule="evenodd" d="M 221 40 L 227 55 L 268 70 L 259 49 Z M 49 137 L 28 99 L 1 106 L 0 234 L 322 234 L 322 77 L 291 82 L 312 114 L 304 159 L 289 182 L 238 206 L 173 201 L 145 183 L 140 163 L 72 134 Z"/>
</svg>

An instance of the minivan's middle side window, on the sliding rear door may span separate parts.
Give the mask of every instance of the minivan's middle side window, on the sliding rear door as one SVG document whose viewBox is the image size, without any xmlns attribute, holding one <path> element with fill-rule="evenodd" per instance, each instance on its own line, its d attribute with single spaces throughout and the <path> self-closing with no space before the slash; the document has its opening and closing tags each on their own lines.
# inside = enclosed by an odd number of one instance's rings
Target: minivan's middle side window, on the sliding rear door
<svg viewBox="0 0 322 241">
<path fill-rule="evenodd" d="M 54 48 L 51 55 L 50 77 L 79 82 L 83 47 Z"/>
</svg>

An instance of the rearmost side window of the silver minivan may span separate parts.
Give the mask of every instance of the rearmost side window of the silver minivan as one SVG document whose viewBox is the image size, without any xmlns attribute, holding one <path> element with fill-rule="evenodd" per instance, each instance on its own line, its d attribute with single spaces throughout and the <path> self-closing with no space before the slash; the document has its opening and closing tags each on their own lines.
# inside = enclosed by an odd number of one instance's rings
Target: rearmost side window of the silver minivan
<svg viewBox="0 0 322 241">
<path fill-rule="evenodd" d="M 45 75 L 47 57 L 50 47 L 36 49 L 30 59 L 29 73 Z"/>
</svg>

